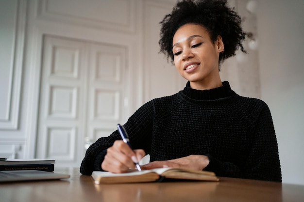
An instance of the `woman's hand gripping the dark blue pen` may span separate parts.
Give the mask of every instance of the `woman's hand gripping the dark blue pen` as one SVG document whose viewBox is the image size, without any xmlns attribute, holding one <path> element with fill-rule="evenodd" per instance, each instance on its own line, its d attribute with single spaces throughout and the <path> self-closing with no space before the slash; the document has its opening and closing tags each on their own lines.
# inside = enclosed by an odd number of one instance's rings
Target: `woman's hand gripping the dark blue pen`
<svg viewBox="0 0 304 202">
<path fill-rule="evenodd" d="M 101 168 L 114 173 L 127 172 L 129 169 L 135 169 L 135 163 L 139 162 L 143 156 L 145 156 L 144 150 L 132 150 L 122 140 L 116 140 L 113 146 L 107 149 Z"/>
</svg>

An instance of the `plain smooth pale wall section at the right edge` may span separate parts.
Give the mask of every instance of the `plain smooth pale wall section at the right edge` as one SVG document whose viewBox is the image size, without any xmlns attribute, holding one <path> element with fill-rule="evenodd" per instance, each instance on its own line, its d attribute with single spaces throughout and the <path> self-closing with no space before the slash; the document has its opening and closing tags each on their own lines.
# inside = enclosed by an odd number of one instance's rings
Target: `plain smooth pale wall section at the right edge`
<svg viewBox="0 0 304 202">
<path fill-rule="evenodd" d="M 285 183 L 304 185 L 304 0 L 259 0 L 261 98 L 270 107 Z"/>
</svg>

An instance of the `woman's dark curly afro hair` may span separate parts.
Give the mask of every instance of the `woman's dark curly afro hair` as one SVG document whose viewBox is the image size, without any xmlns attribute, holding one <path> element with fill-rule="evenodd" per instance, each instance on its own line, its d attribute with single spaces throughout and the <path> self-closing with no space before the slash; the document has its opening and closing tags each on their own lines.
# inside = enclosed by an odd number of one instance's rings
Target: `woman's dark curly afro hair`
<svg viewBox="0 0 304 202">
<path fill-rule="evenodd" d="M 167 55 L 174 63 L 172 40 L 175 32 L 183 25 L 193 23 L 202 25 L 209 33 L 210 39 L 215 42 L 222 37 L 225 51 L 220 53 L 219 63 L 235 56 L 236 50 L 244 53 L 242 41 L 246 33 L 241 28 L 241 18 L 227 6 L 227 0 L 182 0 L 178 1 L 171 14 L 160 22 L 160 52 Z"/>
</svg>

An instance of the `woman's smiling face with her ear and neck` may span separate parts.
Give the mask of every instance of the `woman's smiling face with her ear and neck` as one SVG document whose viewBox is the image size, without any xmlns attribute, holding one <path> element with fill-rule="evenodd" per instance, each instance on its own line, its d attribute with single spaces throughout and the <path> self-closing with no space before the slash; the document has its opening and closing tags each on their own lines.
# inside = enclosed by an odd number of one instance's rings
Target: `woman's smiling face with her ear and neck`
<svg viewBox="0 0 304 202">
<path fill-rule="evenodd" d="M 221 86 L 219 54 L 223 48 L 220 36 L 212 42 L 203 26 L 186 24 L 173 37 L 174 64 L 179 74 L 190 81 L 191 88 L 216 88 Z"/>
</svg>

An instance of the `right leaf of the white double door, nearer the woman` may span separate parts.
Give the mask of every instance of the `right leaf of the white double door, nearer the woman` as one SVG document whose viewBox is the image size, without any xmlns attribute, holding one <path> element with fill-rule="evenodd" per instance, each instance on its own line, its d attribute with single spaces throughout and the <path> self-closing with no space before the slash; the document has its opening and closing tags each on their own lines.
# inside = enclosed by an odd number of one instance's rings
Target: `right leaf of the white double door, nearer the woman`
<svg viewBox="0 0 304 202">
<path fill-rule="evenodd" d="M 127 99 L 127 47 L 108 44 L 90 46 L 90 79 L 87 136 L 93 142 L 109 136 L 125 120 Z"/>
</svg>

